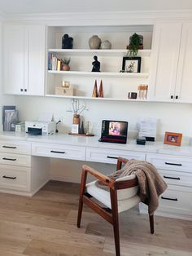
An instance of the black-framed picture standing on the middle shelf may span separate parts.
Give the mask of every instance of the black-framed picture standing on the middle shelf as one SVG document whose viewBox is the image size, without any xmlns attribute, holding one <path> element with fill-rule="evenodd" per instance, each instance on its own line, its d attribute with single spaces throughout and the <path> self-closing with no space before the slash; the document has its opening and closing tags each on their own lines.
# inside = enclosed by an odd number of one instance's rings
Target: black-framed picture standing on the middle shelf
<svg viewBox="0 0 192 256">
<path fill-rule="evenodd" d="M 142 57 L 123 57 L 122 71 L 127 73 L 140 73 Z"/>
</svg>

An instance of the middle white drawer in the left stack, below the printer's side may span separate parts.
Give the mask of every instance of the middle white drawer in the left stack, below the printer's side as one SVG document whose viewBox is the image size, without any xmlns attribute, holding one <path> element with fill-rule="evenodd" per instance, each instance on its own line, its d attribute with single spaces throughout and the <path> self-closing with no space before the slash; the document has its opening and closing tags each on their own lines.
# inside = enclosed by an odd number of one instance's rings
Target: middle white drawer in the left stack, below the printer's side
<svg viewBox="0 0 192 256">
<path fill-rule="evenodd" d="M 0 164 L 30 167 L 31 156 L 0 152 Z"/>
</svg>

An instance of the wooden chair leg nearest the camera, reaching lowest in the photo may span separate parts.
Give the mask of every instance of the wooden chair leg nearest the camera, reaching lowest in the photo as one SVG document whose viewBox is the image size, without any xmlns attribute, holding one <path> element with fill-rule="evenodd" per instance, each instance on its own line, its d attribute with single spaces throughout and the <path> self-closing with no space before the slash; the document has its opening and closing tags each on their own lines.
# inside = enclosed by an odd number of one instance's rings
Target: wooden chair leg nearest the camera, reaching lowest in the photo
<svg viewBox="0 0 192 256">
<path fill-rule="evenodd" d="M 113 233 L 116 245 L 116 256 L 120 256 L 120 232 L 119 232 L 119 218 L 118 218 L 118 205 L 117 205 L 117 193 L 116 190 L 110 190 L 111 192 L 111 210 L 112 210 L 112 222 Z"/>
</svg>

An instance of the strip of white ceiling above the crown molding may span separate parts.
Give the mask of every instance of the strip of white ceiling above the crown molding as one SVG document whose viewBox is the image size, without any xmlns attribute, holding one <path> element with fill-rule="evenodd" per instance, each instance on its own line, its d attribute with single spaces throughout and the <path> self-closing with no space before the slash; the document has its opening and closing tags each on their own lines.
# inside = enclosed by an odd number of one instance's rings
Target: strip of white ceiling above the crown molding
<svg viewBox="0 0 192 256">
<path fill-rule="evenodd" d="M 4 14 L 192 10 L 192 0 L 0 0 Z"/>
</svg>

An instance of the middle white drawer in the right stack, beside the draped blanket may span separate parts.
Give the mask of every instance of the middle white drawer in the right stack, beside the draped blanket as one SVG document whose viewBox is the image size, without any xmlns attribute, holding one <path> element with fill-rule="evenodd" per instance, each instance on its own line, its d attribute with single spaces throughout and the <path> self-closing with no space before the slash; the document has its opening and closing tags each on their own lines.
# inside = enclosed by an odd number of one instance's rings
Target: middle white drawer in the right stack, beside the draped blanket
<svg viewBox="0 0 192 256">
<path fill-rule="evenodd" d="M 159 170 L 164 181 L 171 185 L 180 185 L 192 188 L 192 173 L 178 172 L 175 170 Z"/>
</svg>

